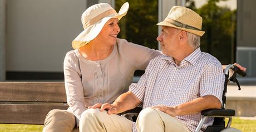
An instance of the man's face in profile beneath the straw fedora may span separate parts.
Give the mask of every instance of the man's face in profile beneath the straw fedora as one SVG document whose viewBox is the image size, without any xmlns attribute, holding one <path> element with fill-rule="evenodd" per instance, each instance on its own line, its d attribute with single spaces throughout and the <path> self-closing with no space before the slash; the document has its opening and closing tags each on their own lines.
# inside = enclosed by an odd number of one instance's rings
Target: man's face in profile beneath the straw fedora
<svg viewBox="0 0 256 132">
<path fill-rule="evenodd" d="M 168 26 L 161 28 L 161 34 L 156 40 L 160 42 L 164 54 L 173 56 L 172 54 L 179 48 L 180 30 Z"/>
</svg>

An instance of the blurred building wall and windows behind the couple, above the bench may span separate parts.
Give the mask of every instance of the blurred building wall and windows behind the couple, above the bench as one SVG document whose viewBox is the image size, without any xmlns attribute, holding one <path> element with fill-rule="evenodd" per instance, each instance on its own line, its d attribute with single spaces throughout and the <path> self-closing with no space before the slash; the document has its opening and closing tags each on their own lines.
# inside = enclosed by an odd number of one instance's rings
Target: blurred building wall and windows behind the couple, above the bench
<svg viewBox="0 0 256 132">
<path fill-rule="evenodd" d="M 156 37 L 170 8 L 193 9 L 203 17 L 201 50 L 222 64 L 247 67 L 241 83 L 256 82 L 256 12 L 254 0 L 0 0 L 0 80 L 63 80 L 63 59 L 82 32 L 81 14 L 107 2 L 118 12 L 125 2 L 119 38 L 159 49 Z M 136 74 L 139 75 L 139 74 Z"/>
</svg>

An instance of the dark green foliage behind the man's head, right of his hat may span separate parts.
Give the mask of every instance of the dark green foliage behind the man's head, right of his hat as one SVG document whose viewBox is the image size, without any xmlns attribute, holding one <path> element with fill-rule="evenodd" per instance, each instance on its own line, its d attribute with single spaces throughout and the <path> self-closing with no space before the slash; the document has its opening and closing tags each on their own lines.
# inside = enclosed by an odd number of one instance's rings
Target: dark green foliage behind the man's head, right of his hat
<svg viewBox="0 0 256 132">
<path fill-rule="evenodd" d="M 219 7 L 220 0 L 208 0 L 202 7 L 196 9 L 194 1 L 187 1 L 188 8 L 193 9 L 203 17 L 201 50 L 214 55 L 221 64 L 233 63 L 234 44 L 236 37 L 236 10 Z"/>
</svg>

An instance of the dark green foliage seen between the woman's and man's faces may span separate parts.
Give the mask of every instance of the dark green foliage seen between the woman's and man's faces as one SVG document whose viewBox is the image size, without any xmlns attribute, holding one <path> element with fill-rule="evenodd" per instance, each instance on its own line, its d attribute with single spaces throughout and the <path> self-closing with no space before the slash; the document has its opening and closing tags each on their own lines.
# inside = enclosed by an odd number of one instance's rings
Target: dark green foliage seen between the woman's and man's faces
<svg viewBox="0 0 256 132">
<path fill-rule="evenodd" d="M 120 20 L 119 38 L 157 49 L 157 1 L 120 0 L 116 1 L 116 10 L 118 11 L 125 2 L 129 2 L 130 8 L 126 16 Z"/>
</svg>

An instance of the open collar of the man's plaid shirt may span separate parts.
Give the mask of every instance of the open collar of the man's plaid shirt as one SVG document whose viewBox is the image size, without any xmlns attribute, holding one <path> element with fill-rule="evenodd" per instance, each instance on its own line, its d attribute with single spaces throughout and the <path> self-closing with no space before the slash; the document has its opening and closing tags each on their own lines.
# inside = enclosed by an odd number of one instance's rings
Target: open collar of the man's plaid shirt
<svg viewBox="0 0 256 132">
<path fill-rule="evenodd" d="M 190 64 L 192 65 L 195 65 L 196 64 L 196 61 L 198 60 L 198 58 L 200 57 L 201 55 L 201 49 L 200 48 L 197 48 L 194 52 L 192 52 L 188 57 L 184 58 L 182 61 L 181 61 L 181 65 L 186 63 L 186 62 L 189 62 Z M 168 60 L 171 64 L 174 64 L 175 61 L 173 59 L 173 57 L 170 57 L 169 55 L 164 55 L 163 57 L 164 60 Z"/>
</svg>

